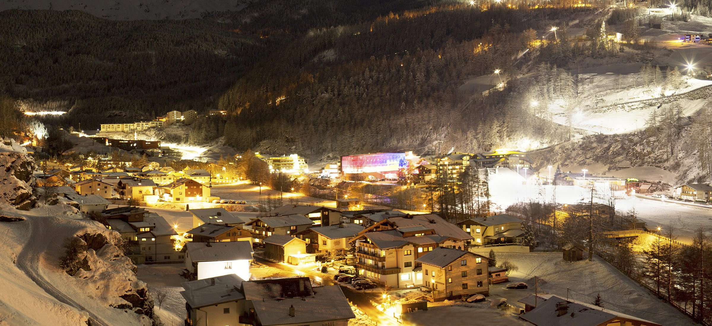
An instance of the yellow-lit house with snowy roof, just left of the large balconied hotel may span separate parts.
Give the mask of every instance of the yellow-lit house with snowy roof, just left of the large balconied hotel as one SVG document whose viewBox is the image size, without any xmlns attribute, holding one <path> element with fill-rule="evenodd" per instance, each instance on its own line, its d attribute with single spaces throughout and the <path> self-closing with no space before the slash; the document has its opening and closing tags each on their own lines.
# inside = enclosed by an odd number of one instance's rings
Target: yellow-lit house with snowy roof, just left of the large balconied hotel
<svg viewBox="0 0 712 326">
<path fill-rule="evenodd" d="M 363 231 L 363 226 L 352 223 L 340 223 L 333 226 L 307 228 L 296 233 L 297 237 L 308 243 L 306 253 L 326 253 L 329 251 L 346 252 L 351 248 L 349 240 Z"/>
</svg>

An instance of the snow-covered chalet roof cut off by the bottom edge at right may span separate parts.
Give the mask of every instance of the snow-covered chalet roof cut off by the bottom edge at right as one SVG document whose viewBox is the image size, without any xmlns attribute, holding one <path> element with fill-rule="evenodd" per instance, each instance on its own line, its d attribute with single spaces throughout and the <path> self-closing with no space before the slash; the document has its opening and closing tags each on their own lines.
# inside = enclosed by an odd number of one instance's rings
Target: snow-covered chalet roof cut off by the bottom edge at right
<svg viewBox="0 0 712 326">
<path fill-rule="evenodd" d="M 552 294 L 528 295 L 517 302 L 525 305 L 525 313 L 519 318 L 535 326 L 661 326 L 609 308 Z"/>
</svg>

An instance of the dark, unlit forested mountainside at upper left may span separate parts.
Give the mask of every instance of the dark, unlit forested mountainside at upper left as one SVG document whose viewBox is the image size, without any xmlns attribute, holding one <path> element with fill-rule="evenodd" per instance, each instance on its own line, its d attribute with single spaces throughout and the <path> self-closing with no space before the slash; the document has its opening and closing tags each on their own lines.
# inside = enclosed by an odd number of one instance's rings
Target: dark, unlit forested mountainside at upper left
<svg viewBox="0 0 712 326">
<path fill-rule="evenodd" d="M 202 19 L 110 21 L 81 11 L 0 12 L 0 95 L 70 110 L 66 127 L 216 107 L 254 63 L 306 33 L 419 1 L 260 1 Z M 300 8 L 298 15 L 285 9 Z M 98 114 L 100 113 L 100 114 Z"/>
</svg>

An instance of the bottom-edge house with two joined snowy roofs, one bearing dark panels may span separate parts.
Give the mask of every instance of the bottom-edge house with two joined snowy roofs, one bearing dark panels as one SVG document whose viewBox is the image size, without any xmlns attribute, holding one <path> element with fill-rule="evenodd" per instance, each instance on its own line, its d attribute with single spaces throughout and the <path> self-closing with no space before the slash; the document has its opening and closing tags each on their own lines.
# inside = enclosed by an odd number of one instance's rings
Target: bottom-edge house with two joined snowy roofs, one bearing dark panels
<svg viewBox="0 0 712 326">
<path fill-rule="evenodd" d="M 186 325 L 345 326 L 355 317 L 341 288 L 309 278 L 245 281 L 229 274 L 182 283 Z"/>
</svg>

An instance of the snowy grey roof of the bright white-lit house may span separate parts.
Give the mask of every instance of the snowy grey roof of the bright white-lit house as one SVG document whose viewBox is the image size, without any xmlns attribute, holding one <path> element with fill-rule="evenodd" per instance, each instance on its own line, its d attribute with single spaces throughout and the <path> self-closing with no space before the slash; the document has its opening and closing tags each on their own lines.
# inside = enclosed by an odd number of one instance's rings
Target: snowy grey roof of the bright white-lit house
<svg viewBox="0 0 712 326">
<path fill-rule="evenodd" d="M 240 261 L 252 259 L 250 241 L 186 243 L 190 261 Z"/>
</svg>

